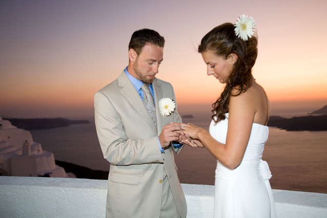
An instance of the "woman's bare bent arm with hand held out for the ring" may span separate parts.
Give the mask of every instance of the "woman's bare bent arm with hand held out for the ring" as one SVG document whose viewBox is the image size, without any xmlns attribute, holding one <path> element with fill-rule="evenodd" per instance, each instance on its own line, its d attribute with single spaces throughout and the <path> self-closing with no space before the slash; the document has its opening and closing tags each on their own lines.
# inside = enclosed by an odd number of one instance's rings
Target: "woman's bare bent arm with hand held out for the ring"
<svg viewBox="0 0 327 218">
<path fill-rule="evenodd" d="M 205 129 L 193 124 L 182 124 L 183 131 L 198 139 L 221 164 L 235 169 L 241 163 L 247 148 L 255 113 L 250 93 L 230 97 L 226 145 L 216 141 Z"/>
</svg>

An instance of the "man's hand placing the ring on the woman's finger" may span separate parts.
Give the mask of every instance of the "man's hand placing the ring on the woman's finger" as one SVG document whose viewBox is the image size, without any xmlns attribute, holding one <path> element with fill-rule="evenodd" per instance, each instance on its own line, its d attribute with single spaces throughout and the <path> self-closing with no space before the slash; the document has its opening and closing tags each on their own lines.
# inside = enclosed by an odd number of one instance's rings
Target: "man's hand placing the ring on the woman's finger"
<svg viewBox="0 0 327 218">
<path fill-rule="evenodd" d="M 159 135 L 159 142 L 161 145 L 161 148 L 166 148 L 170 145 L 172 141 L 179 141 L 179 132 L 181 130 L 181 126 L 178 123 L 171 123 L 164 128 L 162 128 L 162 131 Z"/>
</svg>

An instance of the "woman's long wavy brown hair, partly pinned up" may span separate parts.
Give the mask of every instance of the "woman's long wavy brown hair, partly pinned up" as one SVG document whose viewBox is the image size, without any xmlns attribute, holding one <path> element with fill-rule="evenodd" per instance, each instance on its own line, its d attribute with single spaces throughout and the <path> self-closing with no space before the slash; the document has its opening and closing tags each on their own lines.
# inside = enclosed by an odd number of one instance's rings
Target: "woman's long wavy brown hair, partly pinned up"
<svg viewBox="0 0 327 218">
<path fill-rule="evenodd" d="M 228 58 L 231 54 L 237 55 L 237 61 L 228 75 L 226 86 L 217 101 L 212 104 L 212 115 L 215 123 L 226 118 L 229 112 L 230 96 L 237 96 L 246 92 L 252 86 L 252 67 L 255 64 L 258 50 L 257 38 L 252 36 L 248 41 L 243 41 L 235 35 L 235 26 L 225 23 L 213 28 L 201 40 L 198 52 L 212 51 L 217 56 Z M 236 94 L 232 90 L 236 89 Z"/>
</svg>

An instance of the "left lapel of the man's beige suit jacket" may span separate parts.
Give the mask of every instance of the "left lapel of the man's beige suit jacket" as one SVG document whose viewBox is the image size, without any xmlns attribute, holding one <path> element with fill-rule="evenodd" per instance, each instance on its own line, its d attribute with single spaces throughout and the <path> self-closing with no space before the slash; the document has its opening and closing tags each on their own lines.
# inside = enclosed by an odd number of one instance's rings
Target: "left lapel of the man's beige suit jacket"
<svg viewBox="0 0 327 218">
<path fill-rule="evenodd" d="M 155 126 L 152 122 L 152 118 L 146 109 L 143 101 L 141 100 L 138 92 L 131 83 L 131 81 L 126 76 L 125 72 L 122 71 L 118 77 L 118 86 L 121 87 L 120 93 L 126 98 L 126 100 L 135 108 L 135 110 L 140 114 L 140 116 L 147 122 L 154 133 L 157 135 Z M 157 108 L 157 107 L 156 107 Z M 158 126 L 159 127 L 159 126 Z"/>
</svg>

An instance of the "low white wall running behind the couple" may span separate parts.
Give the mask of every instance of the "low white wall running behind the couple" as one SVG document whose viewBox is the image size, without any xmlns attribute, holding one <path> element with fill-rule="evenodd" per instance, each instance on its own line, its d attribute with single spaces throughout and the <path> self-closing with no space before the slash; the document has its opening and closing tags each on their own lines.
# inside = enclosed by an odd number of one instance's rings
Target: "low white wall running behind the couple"
<svg viewBox="0 0 327 218">
<path fill-rule="evenodd" d="M 214 186 L 182 184 L 188 218 L 213 216 Z M 278 218 L 327 217 L 327 194 L 273 190 Z M 0 217 L 105 217 L 107 181 L 0 176 Z"/>
</svg>

